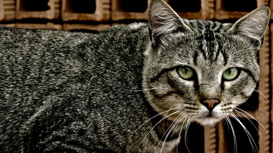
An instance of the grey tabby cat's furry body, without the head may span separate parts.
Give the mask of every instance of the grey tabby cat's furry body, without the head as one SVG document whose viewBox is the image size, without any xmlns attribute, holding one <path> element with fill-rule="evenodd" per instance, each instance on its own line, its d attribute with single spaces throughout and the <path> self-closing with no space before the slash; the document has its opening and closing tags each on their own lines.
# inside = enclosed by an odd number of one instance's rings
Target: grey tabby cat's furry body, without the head
<svg viewBox="0 0 273 153">
<path fill-rule="evenodd" d="M 142 89 L 148 24 L 96 35 L 0 28 L 1 99 L 7 101 L 0 107 L 1 151 L 138 148 L 152 123 L 128 136 L 155 115 L 142 91 L 130 91 Z"/>
</svg>

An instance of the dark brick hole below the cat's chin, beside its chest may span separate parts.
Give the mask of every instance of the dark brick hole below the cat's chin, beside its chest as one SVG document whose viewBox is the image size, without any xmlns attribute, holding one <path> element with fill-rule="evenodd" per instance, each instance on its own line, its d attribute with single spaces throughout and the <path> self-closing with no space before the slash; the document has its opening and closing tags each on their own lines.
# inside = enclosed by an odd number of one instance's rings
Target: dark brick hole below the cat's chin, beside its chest
<svg viewBox="0 0 273 153">
<path fill-rule="evenodd" d="M 189 151 L 191 153 L 204 152 L 204 128 L 200 126 L 200 124 L 195 122 L 190 124 L 187 132 L 186 142 L 185 131 L 181 131 L 180 137 L 181 137 L 180 143 L 177 147 L 178 152 L 183 153 L 189 153 Z M 176 152 L 176 149 L 174 152 Z"/>
</svg>

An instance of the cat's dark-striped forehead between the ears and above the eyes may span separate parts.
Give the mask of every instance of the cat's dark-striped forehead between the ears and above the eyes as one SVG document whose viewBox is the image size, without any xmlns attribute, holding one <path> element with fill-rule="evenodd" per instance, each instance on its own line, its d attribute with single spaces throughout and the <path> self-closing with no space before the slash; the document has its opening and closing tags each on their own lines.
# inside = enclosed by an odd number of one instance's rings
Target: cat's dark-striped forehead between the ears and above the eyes
<svg viewBox="0 0 273 153">
<path fill-rule="evenodd" d="M 159 49 L 163 51 L 158 52 L 163 59 L 167 56 L 175 63 L 213 72 L 241 67 L 256 57 L 243 36 L 228 31 L 231 23 L 186 19 L 183 22 L 193 32 L 178 31 L 166 36 Z"/>
</svg>

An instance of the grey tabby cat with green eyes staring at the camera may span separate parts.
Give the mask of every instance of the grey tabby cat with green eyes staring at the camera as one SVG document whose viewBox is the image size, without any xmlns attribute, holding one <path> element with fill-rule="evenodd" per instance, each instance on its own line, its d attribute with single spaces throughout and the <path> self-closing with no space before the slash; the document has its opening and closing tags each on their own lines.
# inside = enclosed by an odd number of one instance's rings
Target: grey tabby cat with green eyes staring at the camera
<svg viewBox="0 0 273 153">
<path fill-rule="evenodd" d="M 151 0 L 149 23 L 98 34 L 1 26 L 0 151 L 172 151 L 250 97 L 269 16 L 187 20 Z"/>
</svg>

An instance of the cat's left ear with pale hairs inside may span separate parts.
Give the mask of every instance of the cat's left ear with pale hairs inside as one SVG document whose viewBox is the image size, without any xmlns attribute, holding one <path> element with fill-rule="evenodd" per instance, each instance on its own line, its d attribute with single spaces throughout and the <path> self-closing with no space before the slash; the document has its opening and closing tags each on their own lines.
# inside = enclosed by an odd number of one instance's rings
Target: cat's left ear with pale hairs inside
<svg viewBox="0 0 273 153">
<path fill-rule="evenodd" d="M 191 31 L 177 13 L 163 0 L 151 0 L 148 11 L 150 39 L 160 39 L 173 31 Z"/>
</svg>

